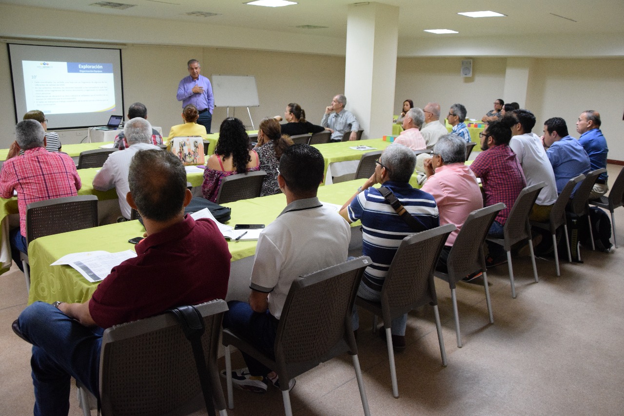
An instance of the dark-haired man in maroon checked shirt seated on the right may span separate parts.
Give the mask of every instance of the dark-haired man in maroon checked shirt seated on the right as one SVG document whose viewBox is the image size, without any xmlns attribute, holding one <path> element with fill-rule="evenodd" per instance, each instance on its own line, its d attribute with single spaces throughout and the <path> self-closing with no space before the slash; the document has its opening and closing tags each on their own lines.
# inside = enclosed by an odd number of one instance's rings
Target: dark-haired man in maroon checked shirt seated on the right
<svg viewBox="0 0 624 416">
<path fill-rule="evenodd" d="M 480 152 L 470 169 L 476 177 L 481 179 L 485 194 L 484 206 L 490 206 L 502 202 L 505 209 L 496 216 L 489 235 L 495 238 L 503 238 L 503 226 L 507 221 L 509 212 L 514 206 L 515 200 L 520 195 L 522 188 L 527 186 L 524 172 L 514 151 L 509 147 L 511 129 L 500 121 L 492 121 L 487 128 L 479 133 L 481 139 Z M 488 244 L 490 255 L 486 262 L 493 266 L 502 264 L 506 260 L 505 252 L 498 244 Z"/>
</svg>

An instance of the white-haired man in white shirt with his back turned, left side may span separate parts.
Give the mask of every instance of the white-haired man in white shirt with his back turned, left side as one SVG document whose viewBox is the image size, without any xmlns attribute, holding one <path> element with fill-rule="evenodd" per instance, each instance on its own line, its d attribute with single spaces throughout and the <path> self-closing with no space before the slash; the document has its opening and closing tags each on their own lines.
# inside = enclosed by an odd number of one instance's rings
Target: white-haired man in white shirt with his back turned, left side
<svg viewBox="0 0 624 416">
<path fill-rule="evenodd" d="M 124 135 L 130 147 L 124 151 L 112 152 L 104 162 L 104 166 L 93 178 L 93 187 L 98 191 L 108 191 L 115 188 L 119 198 L 119 209 L 125 219 L 130 219 L 132 209 L 126 201 L 126 195 L 130 192 L 128 184 L 128 172 L 130 161 L 138 151 L 160 150 L 160 147 L 152 144 L 152 125 L 142 117 L 135 117 L 126 122 Z"/>
</svg>

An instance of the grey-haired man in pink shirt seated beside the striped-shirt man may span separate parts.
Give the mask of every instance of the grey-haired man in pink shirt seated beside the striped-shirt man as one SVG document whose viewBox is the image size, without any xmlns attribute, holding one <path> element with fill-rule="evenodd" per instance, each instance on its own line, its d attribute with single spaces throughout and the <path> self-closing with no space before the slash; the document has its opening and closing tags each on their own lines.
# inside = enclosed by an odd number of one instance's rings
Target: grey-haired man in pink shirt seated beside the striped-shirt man
<svg viewBox="0 0 624 416">
<path fill-rule="evenodd" d="M 447 272 L 446 259 L 464 221 L 470 212 L 483 208 L 483 197 L 477 184 L 477 177 L 464 162 L 466 162 L 466 142 L 456 134 L 440 137 L 433 148 L 433 157 L 424 161 L 427 182 L 421 191 L 431 194 L 436 199 L 440 225 L 455 224 L 457 227 L 446 239 L 446 245 L 437 263 L 437 269 L 444 273 Z M 465 279 L 469 281 L 474 277 Z"/>
</svg>

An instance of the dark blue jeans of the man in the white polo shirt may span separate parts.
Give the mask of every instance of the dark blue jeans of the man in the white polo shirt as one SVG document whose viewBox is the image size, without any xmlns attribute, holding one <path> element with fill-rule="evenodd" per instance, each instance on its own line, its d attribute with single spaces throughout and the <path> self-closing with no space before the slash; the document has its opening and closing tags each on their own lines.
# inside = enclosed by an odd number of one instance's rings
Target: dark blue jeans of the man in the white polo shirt
<svg viewBox="0 0 624 416">
<path fill-rule="evenodd" d="M 228 302 L 230 310 L 223 315 L 223 328 L 232 329 L 236 334 L 245 337 L 245 340 L 256 349 L 275 359 L 275 335 L 280 320 L 276 319 L 271 312 L 253 312 L 251 306 L 240 300 Z M 251 375 L 267 375 L 273 369 L 266 367 L 248 354 L 243 354 L 245 364 Z"/>
</svg>

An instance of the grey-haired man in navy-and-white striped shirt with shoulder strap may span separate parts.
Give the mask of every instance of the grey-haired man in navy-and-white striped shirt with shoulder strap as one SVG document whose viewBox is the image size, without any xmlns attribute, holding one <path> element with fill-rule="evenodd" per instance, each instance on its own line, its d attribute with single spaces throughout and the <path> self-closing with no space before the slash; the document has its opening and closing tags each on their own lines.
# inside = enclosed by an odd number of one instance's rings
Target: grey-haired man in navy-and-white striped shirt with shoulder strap
<svg viewBox="0 0 624 416">
<path fill-rule="evenodd" d="M 436 201 L 431 194 L 414 189 L 409 179 L 416 167 L 416 156 L 408 147 L 391 144 L 376 161 L 373 176 L 349 199 L 340 210 L 348 222 L 361 220 L 363 232 L 362 254 L 368 255 L 373 264 L 364 270 L 358 296 L 367 300 L 379 300 L 381 287 L 388 274 L 394 254 L 402 239 L 414 234 L 414 230 L 396 214 L 389 202 L 374 188 L 381 184 L 392 191 L 407 212 L 424 225 L 425 229 L 439 226 Z M 392 320 L 392 344 L 394 349 L 405 348 L 407 314 Z M 353 329 L 359 327 L 357 311 L 354 312 Z"/>
</svg>

